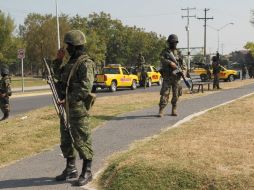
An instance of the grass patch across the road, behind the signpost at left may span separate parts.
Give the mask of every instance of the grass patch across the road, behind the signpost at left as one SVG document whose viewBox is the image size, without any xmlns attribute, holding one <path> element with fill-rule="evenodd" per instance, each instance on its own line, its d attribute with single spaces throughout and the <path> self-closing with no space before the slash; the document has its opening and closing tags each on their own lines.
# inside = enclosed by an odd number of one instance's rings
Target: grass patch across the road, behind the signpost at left
<svg viewBox="0 0 254 190">
<path fill-rule="evenodd" d="M 25 77 L 24 78 L 24 86 L 32 87 L 32 86 L 44 86 L 47 85 L 46 80 L 42 80 L 41 78 L 32 78 Z M 11 87 L 12 88 L 21 88 L 22 87 L 22 78 L 21 77 L 13 77 L 11 79 Z"/>
</svg>

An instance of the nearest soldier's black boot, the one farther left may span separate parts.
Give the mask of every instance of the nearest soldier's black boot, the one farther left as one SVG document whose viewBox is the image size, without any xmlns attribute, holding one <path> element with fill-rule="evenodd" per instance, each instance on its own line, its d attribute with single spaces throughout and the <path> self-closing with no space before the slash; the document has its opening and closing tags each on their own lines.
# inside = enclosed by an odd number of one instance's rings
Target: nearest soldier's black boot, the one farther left
<svg viewBox="0 0 254 190">
<path fill-rule="evenodd" d="M 75 165 L 75 158 L 67 158 L 66 168 L 62 174 L 56 176 L 56 181 L 68 180 L 78 177 L 78 170 Z"/>
</svg>

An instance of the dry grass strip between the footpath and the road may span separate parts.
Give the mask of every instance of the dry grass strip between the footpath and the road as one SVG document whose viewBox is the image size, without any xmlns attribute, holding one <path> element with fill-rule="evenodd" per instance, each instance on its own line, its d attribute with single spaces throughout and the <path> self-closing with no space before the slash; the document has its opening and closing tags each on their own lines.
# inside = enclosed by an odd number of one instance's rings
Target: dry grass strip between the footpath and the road
<svg viewBox="0 0 254 190">
<path fill-rule="evenodd" d="M 252 80 L 223 83 L 223 88 L 236 88 L 253 83 Z M 228 85 L 231 85 L 228 87 Z M 180 100 L 204 96 L 218 91 L 199 94 L 184 94 Z M 15 97 L 12 97 L 15 98 Z M 92 128 L 102 126 L 118 114 L 148 108 L 157 105 L 159 92 L 143 92 L 121 96 L 97 98 L 91 112 Z M 0 167 L 51 149 L 59 143 L 59 119 L 54 108 L 45 107 L 12 117 L 0 122 Z"/>
</svg>

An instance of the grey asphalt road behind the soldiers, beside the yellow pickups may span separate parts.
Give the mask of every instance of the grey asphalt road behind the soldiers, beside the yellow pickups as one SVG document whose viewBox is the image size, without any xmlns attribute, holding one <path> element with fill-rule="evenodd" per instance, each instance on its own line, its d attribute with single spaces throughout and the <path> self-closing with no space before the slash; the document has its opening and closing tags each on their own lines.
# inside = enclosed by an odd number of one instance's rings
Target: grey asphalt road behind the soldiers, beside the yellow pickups
<svg viewBox="0 0 254 190">
<path fill-rule="evenodd" d="M 32 90 L 32 89 L 31 89 Z M 159 92 L 159 86 L 152 86 L 151 88 L 143 89 L 138 88 L 137 90 L 130 89 L 119 89 L 117 92 L 111 93 L 106 90 L 101 90 L 96 93 L 97 97 L 102 96 L 118 96 L 123 94 L 130 93 L 140 93 L 140 92 Z M 25 113 L 27 111 L 31 111 L 34 109 L 38 109 L 44 106 L 52 105 L 52 96 L 51 95 L 36 95 L 29 97 L 16 97 L 12 98 L 11 101 L 11 116 L 15 116 L 17 114 Z M 0 112 L 0 118 L 2 117 L 2 113 Z"/>
</svg>

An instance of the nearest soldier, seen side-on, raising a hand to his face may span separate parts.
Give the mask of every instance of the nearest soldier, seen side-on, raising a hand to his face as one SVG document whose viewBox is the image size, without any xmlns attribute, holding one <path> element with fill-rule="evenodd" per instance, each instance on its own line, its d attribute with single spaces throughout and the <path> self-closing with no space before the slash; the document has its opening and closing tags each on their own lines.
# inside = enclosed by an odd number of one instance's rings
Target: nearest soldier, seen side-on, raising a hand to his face
<svg viewBox="0 0 254 190">
<path fill-rule="evenodd" d="M 71 30 L 65 34 L 64 42 L 70 59 L 63 65 L 64 50 L 60 49 L 57 59 L 53 62 L 54 73 L 58 79 L 58 89 L 62 100 L 60 104 L 66 107 L 67 118 L 70 123 L 71 135 L 63 128 L 61 122 L 61 150 L 66 158 L 66 168 L 57 181 L 75 178 L 78 175 L 75 166 L 75 149 L 83 159 L 81 174 L 77 180 L 78 186 L 83 186 L 92 180 L 92 140 L 89 128 L 89 107 L 91 90 L 94 81 L 95 64 L 86 55 L 84 44 L 86 37 L 80 30 Z M 75 149 L 74 149 L 75 148 Z"/>
</svg>

